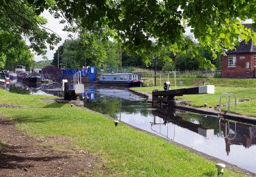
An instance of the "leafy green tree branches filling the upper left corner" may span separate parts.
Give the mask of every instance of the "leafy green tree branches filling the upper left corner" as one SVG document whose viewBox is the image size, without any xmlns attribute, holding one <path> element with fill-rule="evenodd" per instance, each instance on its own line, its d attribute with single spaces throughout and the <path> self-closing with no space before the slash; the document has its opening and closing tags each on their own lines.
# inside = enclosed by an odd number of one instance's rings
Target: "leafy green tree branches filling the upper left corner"
<svg viewBox="0 0 256 177">
<path fill-rule="evenodd" d="M 31 54 L 28 51 L 23 39 L 26 39 L 29 42 L 29 48 L 31 48 L 37 54 L 46 54 L 46 44 L 49 44 L 50 48 L 53 49 L 53 46 L 59 42 L 60 37 L 44 27 L 47 20 L 41 16 L 38 16 L 41 10 L 43 10 L 45 7 L 52 6 L 53 3 L 54 1 L 50 0 L 47 2 L 44 1 L 44 7 L 37 10 L 36 7 L 29 4 L 28 1 L 0 0 L 0 33 L 5 33 L 12 36 L 16 39 L 16 42 L 18 42 L 18 45 L 12 43 L 12 50 L 14 51 L 12 53 L 12 57 L 15 59 L 8 57 L 8 55 L 10 55 L 10 51 L 8 52 L 5 50 L 6 48 L 10 47 L 11 44 L 1 42 L 1 67 L 3 67 L 8 61 L 6 67 L 13 68 L 13 61 L 17 61 L 21 55 L 23 55 L 23 65 L 27 65 L 31 62 L 31 57 L 28 56 Z M 1 38 L 1 40 L 2 39 L 3 38 Z M 12 42 L 14 42 L 14 40 Z M 27 53 L 25 53 L 25 51 Z M 27 55 L 27 57 L 24 55 Z"/>
</svg>

